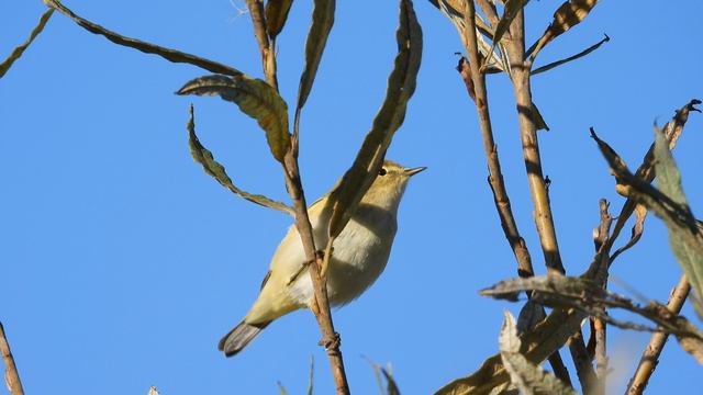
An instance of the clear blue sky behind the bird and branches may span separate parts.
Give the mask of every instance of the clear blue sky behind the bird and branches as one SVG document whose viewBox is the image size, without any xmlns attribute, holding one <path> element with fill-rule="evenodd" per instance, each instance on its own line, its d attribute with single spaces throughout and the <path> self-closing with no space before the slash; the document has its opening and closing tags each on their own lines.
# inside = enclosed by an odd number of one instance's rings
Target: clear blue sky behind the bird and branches
<svg viewBox="0 0 703 395">
<path fill-rule="evenodd" d="M 529 37 L 542 33 L 559 3 L 531 2 Z M 242 0 L 66 4 L 122 34 L 261 75 L 250 20 L 237 11 Z M 397 1 L 338 1 L 301 124 L 310 201 L 352 163 L 381 103 L 397 9 Z M 408 188 L 383 275 L 335 311 L 356 394 L 377 393 L 364 356 L 392 363 L 404 394 L 426 394 L 472 372 L 498 349 L 502 311 L 518 308 L 477 294 L 514 276 L 515 262 L 486 183 L 476 111 L 454 70 L 460 42 L 427 1 L 415 1 L 415 9 L 425 33 L 423 65 L 388 157 L 429 170 Z M 0 3 L 0 56 L 25 40 L 44 10 L 38 0 Z M 279 40 L 279 81 L 289 105 L 310 13 L 309 1 L 295 2 Z M 542 154 L 570 273 L 581 273 L 593 255 L 598 200 L 609 199 L 615 213 L 623 202 L 588 127 L 636 167 L 652 140 L 652 122 L 663 124 L 674 109 L 703 97 L 701 14 L 696 0 L 603 1 L 542 53 L 544 64 L 603 33 L 612 38 L 589 57 L 534 78 L 535 102 L 551 127 L 540 133 Z M 234 359 L 216 350 L 254 301 L 291 221 L 232 195 L 190 158 L 185 126 L 192 101 L 202 143 L 235 183 L 286 199 L 280 168 L 254 121 L 219 99 L 174 94 L 205 74 L 115 46 L 55 14 L 0 80 L 0 319 L 29 394 L 144 394 L 149 385 L 167 395 L 271 394 L 277 381 L 300 394 L 311 354 L 316 393 L 332 392 L 308 312 L 275 323 Z M 544 273 L 512 89 L 503 76 L 492 76 L 489 89 L 518 226 Z M 699 216 L 702 129 L 703 116 L 693 114 L 674 153 Z M 680 269 L 659 219 L 648 218 L 641 241 L 612 275 L 666 301 Z M 609 332 L 614 392 L 622 392 L 648 338 Z M 650 391 L 684 393 L 700 385 L 700 372 L 671 342 Z"/>
</svg>

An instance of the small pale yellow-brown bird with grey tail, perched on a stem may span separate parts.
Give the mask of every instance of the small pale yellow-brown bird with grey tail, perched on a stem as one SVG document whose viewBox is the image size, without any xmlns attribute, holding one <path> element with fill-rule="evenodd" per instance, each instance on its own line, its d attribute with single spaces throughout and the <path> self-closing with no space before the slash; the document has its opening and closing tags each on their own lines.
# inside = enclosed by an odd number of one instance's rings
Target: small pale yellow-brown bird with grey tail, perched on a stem
<svg viewBox="0 0 703 395">
<path fill-rule="evenodd" d="M 384 160 L 348 224 L 334 240 L 326 270 L 327 298 L 332 306 L 345 305 L 364 293 L 381 274 L 398 230 L 398 206 L 410 178 L 425 167 L 405 168 Z M 330 193 L 308 208 L 315 246 L 325 246 L 332 216 Z M 254 340 L 271 321 L 301 308 L 314 297 L 310 266 L 294 225 L 271 258 L 259 295 L 244 319 L 217 345 L 233 357 Z"/>
</svg>

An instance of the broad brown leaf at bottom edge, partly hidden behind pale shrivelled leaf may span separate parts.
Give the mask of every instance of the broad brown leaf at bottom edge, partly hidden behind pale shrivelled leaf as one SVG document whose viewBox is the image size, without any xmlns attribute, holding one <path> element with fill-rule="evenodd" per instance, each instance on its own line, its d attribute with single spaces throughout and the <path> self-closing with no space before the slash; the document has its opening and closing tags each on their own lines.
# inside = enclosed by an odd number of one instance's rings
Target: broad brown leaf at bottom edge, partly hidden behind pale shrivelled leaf
<svg viewBox="0 0 703 395">
<path fill-rule="evenodd" d="M 540 364 L 581 328 L 585 314 L 576 309 L 554 309 L 534 330 L 520 335 L 521 352 L 527 361 Z M 510 375 L 501 354 L 487 359 L 471 375 L 457 379 L 439 388 L 436 395 L 498 394 L 510 386 Z"/>
</svg>

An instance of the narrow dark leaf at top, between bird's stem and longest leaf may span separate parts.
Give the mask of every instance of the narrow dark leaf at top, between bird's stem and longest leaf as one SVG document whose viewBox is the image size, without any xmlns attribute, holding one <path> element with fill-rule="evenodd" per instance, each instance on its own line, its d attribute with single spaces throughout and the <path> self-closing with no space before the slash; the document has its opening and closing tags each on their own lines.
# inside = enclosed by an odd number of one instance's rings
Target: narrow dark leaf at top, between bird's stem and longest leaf
<svg viewBox="0 0 703 395">
<path fill-rule="evenodd" d="M 305 105 L 308 95 L 312 90 L 312 83 L 317 74 L 322 53 L 325 49 L 330 31 L 334 24 L 335 7 L 336 0 L 315 0 L 314 2 L 312 23 L 308 32 L 308 40 L 305 41 L 305 68 L 300 76 L 300 84 L 298 87 L 295 119 L 300 116 L 300 110 Z"/>
</svg>

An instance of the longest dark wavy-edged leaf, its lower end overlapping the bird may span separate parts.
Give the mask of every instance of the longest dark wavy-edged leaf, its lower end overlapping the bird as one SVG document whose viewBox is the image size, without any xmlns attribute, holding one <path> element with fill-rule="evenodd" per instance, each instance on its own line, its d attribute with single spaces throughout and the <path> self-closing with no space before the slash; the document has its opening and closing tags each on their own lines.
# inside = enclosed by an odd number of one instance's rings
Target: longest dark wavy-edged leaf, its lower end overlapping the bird
<svg viewBox="0 0 703 395">
<path fill-rule="evenodd" d="M 330 195 L 328 204 L 333 208 L 330 236 L 333 238 L 344 229 L 352 213 L 376 179 L 386 150 L 391 144 L 393 134 L 402 125 L 408 102 L 415 91 L 422 58 L 422 30 L 417 23 L 412 0 L 400 1 L 397 40 L 398 55 L 393 71 L 388 78 L 386 100 L 354 163 Z"/>
</svg>

